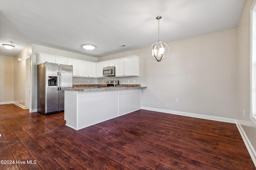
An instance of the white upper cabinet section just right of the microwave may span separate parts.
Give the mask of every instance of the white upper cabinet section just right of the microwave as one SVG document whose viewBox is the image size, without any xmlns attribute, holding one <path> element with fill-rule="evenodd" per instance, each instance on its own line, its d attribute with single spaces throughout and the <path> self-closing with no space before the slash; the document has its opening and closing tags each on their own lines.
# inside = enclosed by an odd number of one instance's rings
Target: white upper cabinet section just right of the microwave
<svg viewBox="0 0 256 170">
<path fill-rule="evenodd" d="M 139 57 L 131 56 L 115 61 L 116 77 L 139 76 Z"/>
</svg>

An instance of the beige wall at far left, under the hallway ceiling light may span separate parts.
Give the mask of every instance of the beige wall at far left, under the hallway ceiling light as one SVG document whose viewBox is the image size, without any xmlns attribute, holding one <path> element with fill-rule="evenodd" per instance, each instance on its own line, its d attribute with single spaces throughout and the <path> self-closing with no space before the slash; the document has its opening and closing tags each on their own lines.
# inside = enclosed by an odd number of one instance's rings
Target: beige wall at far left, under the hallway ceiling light
<svg viewBox="0 0 256 170">
<path fill-rule="evenodd" d="M 14 101 L 14 57 L 0 55 L 0 104 Z"/>
</svg>

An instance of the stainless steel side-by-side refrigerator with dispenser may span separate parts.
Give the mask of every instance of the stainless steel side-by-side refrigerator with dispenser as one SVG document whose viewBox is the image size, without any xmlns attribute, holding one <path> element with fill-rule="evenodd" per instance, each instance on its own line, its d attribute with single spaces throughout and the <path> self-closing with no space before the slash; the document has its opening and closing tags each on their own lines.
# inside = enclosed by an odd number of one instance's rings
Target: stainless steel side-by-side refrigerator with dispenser
<svg viewBox="0 0 256 170">
<path fill-rule="evenodd" d="M 64 88 L 73 86 L 73 66 L 38 64 L 37 108 L 44 115 L 64 111 Z"/>
</svg>

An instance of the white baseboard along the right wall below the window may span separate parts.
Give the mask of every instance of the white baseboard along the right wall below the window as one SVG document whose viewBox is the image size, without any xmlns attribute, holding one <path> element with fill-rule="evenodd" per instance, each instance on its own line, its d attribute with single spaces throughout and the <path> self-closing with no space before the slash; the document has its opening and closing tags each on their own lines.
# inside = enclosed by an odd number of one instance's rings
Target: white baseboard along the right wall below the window
<svg viewBox="0 0 256 170">
<path fill-rule="evenodd" d="M 244 129 L 240 125 L 239 121 L 236 121 L 236 126 L 238 128 L 238 131 L 240 132 L 242 139 L 244 141 L 244 144 L 252 158 L 252 162 L 254 163 L 254 166 L 256 167 L 256 150 L 252 146 L 252 143 L 250 143 L 250 140 L 248 139 L 246 133 L 244 132 Z"/>
</svg>

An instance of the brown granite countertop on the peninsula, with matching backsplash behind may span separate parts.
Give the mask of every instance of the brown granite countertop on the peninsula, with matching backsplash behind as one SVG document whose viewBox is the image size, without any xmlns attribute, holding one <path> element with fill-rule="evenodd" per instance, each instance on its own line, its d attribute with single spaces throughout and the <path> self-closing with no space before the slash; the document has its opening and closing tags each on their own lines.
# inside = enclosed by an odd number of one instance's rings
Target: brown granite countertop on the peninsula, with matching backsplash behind
<svg viewBox="0 0 256 170">
<path fill-rule="evenodd" d="M 122 90 L 122 89 L 142 89 L 140 84 L 120 84 L 120 87 L 102 87 L 106 84 L 74 84 L 73 88 L 64 88 L 66 91 L 101 91 L 101 90 Z M 98 88 L 100 87 L 100 88 Z"/>
</svg>

